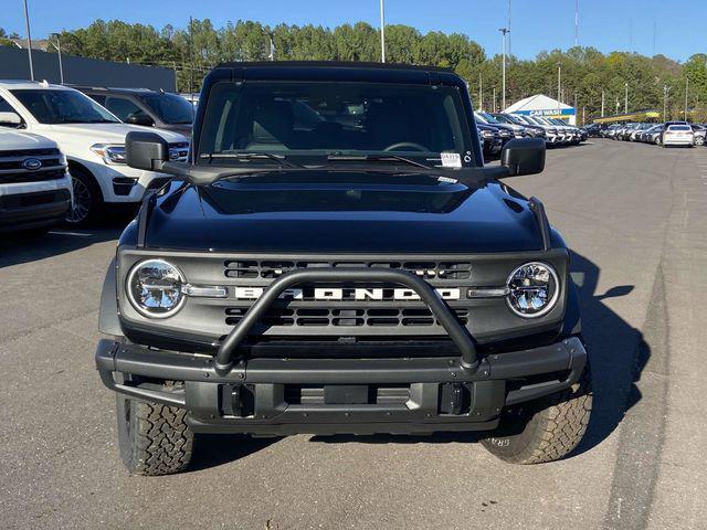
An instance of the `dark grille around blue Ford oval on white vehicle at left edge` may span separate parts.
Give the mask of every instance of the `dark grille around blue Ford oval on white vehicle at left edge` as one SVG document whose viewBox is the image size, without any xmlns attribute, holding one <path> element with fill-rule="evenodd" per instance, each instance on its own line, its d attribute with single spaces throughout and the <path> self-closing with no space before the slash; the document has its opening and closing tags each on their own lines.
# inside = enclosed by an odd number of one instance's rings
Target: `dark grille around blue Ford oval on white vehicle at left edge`
<svg viewBox="0 0 707 530">
<path fill-rule="evenodd" d="M 25 169 L 27 160 L 36 159 L 38 169 Z M 59 149 L 22 149 L 0 151 L 0 184 L 19 182 L 42 182 L 63 179 L 66 168 L 62 163 Z"/>
</svg>

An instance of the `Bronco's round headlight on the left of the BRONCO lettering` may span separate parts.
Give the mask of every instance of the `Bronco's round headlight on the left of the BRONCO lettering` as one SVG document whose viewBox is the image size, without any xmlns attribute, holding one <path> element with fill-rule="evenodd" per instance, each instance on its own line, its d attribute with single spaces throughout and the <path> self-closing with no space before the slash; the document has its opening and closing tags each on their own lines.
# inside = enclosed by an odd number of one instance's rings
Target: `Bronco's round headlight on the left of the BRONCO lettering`
<svg viewBox="0 0 707 530">
<path fill-rule="evenodd" d="M 184 276 L 163 259 L 147 259 L 133 267 L 126 289 L 133 307 L 150 318 L 166 318 L 177 312 L 186 300 Z"/>
</svg>

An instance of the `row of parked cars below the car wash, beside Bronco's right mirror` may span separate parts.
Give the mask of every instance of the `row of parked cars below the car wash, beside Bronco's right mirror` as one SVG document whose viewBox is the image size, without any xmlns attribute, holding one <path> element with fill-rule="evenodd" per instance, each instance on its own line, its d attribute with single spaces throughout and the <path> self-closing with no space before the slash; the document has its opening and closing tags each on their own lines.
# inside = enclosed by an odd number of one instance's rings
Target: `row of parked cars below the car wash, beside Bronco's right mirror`
<svg viewBox="0 0 707 530">
<path fill-rule="evenodd" d="M 547 147 L 578 145 L 587 131 L 558 118 L 505 113 L 474 113 L 485 157 L 495 157 L 514 138 L 542 138 Z"/>
</svg>

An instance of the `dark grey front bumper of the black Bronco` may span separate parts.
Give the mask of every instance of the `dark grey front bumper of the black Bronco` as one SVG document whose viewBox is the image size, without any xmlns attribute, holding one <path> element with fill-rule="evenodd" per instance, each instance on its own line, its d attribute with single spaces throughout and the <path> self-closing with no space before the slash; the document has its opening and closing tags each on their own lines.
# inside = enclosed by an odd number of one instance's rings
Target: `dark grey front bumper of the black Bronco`
<svg viewBox="0 0 707 530">
<path fill-rule="evenodd" d="M 578 337 L 473 367 L 460 357 L 250 359 L 223 372 L 210 356 L 108 339 L 96 351 L 110 390 L 187 409 L 196 432 L 265 435 L 493 430 L 504 406 L 570 386 L 585 364 Z"/>
</svg>

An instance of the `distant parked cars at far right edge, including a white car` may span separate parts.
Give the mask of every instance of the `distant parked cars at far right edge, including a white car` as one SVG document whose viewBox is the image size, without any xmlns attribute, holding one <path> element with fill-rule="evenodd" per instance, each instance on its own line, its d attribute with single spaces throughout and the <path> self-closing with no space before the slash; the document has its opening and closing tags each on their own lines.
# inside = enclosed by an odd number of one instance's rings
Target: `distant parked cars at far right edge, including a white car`
<svg viewBox="0 0 707 530">
<path fill-rule="evenodd" d="M 656 146 L 704 146 L 707 125 L 687 121 L 665 124 L 614 124 L 599 130 L 599 136 L 613 140 L 641 141 Z"/>
</svg>

